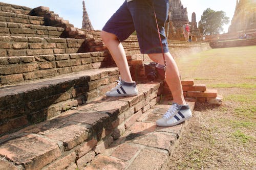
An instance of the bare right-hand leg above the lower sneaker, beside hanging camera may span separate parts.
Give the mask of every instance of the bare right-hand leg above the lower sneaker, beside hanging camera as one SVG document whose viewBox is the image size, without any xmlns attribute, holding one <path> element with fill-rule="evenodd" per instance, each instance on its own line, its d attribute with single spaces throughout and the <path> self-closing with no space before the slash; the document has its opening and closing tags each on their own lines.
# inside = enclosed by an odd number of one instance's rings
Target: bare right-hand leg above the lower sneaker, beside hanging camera
<svg viewBox="0 0 256 170">
<path fill-rule="evenodd" d="M 163 55 L 160 54 L 148 54 L 148 56 L 155 62 L 164 65 Z M 170 53 L 164 54 L 166 59 L 166 78 L 165 81 L 172 91 L 174 102 L 179 105 L 185 105 L 185 99 L 183 95 L 182 85 L 180 81 L 180 74 L 174 58 Z"/>
</svg>

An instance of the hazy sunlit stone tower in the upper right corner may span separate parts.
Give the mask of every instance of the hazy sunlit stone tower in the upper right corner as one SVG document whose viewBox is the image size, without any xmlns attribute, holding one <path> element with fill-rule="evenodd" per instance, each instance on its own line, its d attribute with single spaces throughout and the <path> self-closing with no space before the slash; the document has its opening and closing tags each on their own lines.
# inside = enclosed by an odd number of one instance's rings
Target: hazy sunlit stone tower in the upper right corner
<svg viewBox="0 0 256 170">
<path fill-rule="evenodd" d="M 236 10 L 234 11 L 228 33 L 237 34 L 238 36 L 243 34 L 253 35 L 256 33 L 255 0 L 237 0 Z"/>
</svg>

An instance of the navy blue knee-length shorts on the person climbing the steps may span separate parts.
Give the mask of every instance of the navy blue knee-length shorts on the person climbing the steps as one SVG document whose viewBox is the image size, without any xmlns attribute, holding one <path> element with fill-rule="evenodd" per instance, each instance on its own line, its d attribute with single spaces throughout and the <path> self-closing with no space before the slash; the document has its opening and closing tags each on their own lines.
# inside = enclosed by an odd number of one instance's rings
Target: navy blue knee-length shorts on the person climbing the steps
<svg viewBox="0 0 256 170">
<path fill-rule="evenodd" d="M 134 0 L 129 3 L 125 0 L 102 30 L 115 34 L 120 41 L 127 39 L 136 30 L 141 53 L 162 53 L 153 5 L 163 51 L 167 53 L 169 50 L 164 25 L 168 18 L 168 0 Z"/>
</svg>

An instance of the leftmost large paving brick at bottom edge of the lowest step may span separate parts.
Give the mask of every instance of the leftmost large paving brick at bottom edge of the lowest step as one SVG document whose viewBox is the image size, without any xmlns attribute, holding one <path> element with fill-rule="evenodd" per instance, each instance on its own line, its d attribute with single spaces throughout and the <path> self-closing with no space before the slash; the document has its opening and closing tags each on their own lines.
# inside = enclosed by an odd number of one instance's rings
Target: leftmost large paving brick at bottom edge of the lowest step
<svg viewBox="0 0 256 170">
<path fill-rule="evenodd" d="M 125 169 L 127 163 L 117 158 L 98 155 L 84 170 Z"/>
</svg>

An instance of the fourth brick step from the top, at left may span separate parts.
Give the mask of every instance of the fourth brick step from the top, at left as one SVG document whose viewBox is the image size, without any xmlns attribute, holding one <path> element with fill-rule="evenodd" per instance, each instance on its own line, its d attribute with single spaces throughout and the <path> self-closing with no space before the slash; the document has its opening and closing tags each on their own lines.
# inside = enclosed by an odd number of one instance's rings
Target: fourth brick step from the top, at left
<svg viewBox="0 0 256 170">
<path fill-rule="evenodd" d="M 85 39 L 0 36 L 0 57 L 86 52 Z"/>
</svg>

